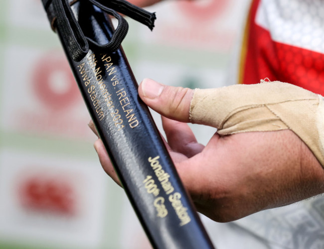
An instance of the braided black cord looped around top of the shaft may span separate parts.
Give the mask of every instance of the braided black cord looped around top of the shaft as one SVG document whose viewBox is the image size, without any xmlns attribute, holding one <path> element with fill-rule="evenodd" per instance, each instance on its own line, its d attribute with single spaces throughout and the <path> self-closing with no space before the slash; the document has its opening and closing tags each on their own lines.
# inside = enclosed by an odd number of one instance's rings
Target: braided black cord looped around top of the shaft
<svg viewBox="0 0 324 249">
<path fill-rule="evenodd" d="M 118 20 L 118 25 L 110 41 L 107 44 L 98 44 L 91 38 L 84 35 L 68 0 L 42 0 L 46 11 L 53 4 L 54 25 L 60 27 L 63 33 L 63 42 L 68 49 L 72 59 L 76 62 L 81 61 L 91 48 L 100 49 L 103 52 L 115 52 L 121 45 L 128 32 L 128 23 L 119 14 L 121 12 L 129 17 L 145 24 L 151 30 L 154 28 L 156 19 L 155 13 L 148 12 L 126 0 L 88 0 L 108 14 L 113 15 Z M 75 3 L 81 0 L 74 0 Z"/>
</svg>

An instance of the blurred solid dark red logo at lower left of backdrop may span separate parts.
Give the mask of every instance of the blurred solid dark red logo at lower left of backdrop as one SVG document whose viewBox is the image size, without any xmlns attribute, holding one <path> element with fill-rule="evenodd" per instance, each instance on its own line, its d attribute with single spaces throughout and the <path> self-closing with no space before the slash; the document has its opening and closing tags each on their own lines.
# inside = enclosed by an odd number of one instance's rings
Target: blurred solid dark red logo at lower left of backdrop
<svg viewBox="0 0 324 249">
<path fill-rule="evenodd" d="M 76 194 L 72 184 L 60 176 L 32 175 L 19 185 L 19 201 L 28 210 L 74 215 Z"/>
</svg>

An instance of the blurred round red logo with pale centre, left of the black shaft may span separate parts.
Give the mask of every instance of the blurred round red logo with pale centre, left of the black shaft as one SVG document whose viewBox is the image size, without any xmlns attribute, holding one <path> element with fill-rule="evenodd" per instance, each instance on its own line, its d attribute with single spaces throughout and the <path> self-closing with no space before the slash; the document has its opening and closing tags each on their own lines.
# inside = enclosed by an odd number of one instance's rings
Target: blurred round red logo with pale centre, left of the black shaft
<svg viewBox="0 0 324 249">
<path fill-rule="evenodd" d="M 66 109 L 79 97 L 77 83 L 62 53 L 50 52 L 41 57 L 32 80 L 36 96 L 52 110 Z"/>
</svg>

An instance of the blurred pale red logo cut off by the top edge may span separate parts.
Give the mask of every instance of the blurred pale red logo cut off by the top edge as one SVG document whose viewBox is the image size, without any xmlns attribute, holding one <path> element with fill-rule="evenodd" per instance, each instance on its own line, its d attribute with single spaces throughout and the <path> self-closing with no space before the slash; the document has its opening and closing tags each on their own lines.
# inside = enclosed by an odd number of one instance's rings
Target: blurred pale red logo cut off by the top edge
<svg viewBox="0 0 324 249">
<path fill-rule="evenodd" d="M 188 19 L 209 21 L 217 18 L 229 2 L 229 0 L 178 0 L 177 5 Z"/>
</svg>

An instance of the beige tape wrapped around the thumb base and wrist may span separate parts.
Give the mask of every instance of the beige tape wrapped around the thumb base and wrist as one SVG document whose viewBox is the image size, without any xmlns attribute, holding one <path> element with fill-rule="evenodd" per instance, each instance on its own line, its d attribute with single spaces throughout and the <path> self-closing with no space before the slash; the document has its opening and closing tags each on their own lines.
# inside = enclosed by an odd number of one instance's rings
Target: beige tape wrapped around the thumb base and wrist
<svg viewBox="0 0 324 249">
<path fill-rule="evenodd" d="M 324 166 L 324 103 L 321 95 L 281 82 L 195 89 L 190 122 L 220 135 L 250 131 L 295 132 Z"/>
</svg>

